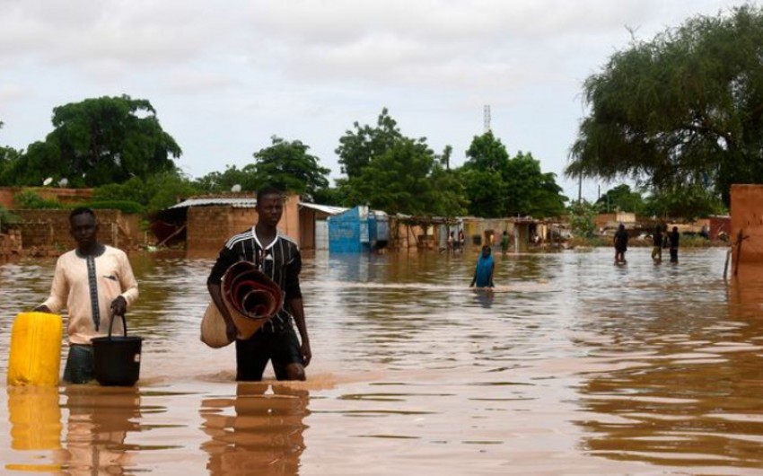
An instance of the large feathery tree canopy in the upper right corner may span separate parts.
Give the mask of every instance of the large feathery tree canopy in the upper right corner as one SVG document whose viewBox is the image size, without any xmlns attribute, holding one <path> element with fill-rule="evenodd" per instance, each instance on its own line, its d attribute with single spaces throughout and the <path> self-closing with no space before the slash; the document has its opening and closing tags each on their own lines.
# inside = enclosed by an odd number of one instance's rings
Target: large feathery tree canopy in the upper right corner
<svg viewBox="0 0 763 476">
<path fill-rule="evenodd" d="M 763 181 L 763 10 L 697 16 L 634 40 L 583 85 L 568 176 L 654 190 Z"/>
</svg>

